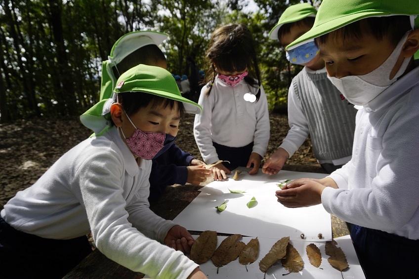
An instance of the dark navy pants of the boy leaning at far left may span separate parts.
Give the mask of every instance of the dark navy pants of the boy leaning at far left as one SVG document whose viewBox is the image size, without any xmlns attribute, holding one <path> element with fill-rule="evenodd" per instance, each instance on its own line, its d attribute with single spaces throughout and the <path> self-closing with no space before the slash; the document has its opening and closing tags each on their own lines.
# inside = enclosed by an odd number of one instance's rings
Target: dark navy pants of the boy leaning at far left
<svg viewBox="0 0 419 279">
<path fill-rule="evenodd" d="M 0 217 L 0 278 L 62 278 L 92 251 L 86 236 L 45 239 L 18 231 Z"/>
</svg>

